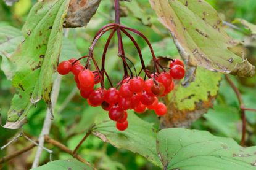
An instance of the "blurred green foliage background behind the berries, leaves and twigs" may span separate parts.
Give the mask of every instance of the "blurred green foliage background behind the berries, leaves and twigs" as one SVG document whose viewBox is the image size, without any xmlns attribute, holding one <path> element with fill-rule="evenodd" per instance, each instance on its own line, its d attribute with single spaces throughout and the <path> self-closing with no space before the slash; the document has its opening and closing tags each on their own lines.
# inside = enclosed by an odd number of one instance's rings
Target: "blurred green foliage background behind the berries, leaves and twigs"
<svg viewBox="0 0 256 170">
<path fill-rule="evenodd" d="M 220 17 L 231 23 L 235 18 L 244 18 L 247 21 L 256 24 L 256 3 L 255 0 L 207 0 L 220 14 Z M 36 1 L 20 0 L 14 6 L 9 7 L 0 0 L 0 25 L 10 25 L 15 28 L 22 29 L 28 12 Z M 178 52 L 167 30 L 157 21 L 155 12 L 151 9 L 147 0 L 137 0 L 133 2 L 121 2 L 122 23 L 142 31 L 152 42 L 156 55 L 171 56 L 176 58 Z M 101 26 L 112 22 L 114 19 L 114 7 L 112 1 L 102 1 L 96 15 L 91 19 L 86 28 L 69 28 L 67 39 L 64 40 L 65 47 L 72 48 L 70 53 L 65 53 L 62 49 L 60 60 L 68 58 L 79 58 L 88 53 L 88 47 Z M 226 27 L 228 34 L 234 39 L 246 42 L 247 58 L 252 64 L 256 64 L 256 43 L 255 39 L 250 38 L 240 31 Z M 99 60 L 102 55 L 107 36 L 103 36 L 96 46 L 94 54 Z M 146 43 L 140 38 L 136 38 L 142 48 L 142 53 L 147 64 L 150 63 L 151 55 L 146 47 Z M 124 37 L 123 39 L 126 55 L 133 61 L 136 67 L 139 66 L 139 59 L 133 44 Z M 107 72 L 115 83 L 122 79 L 122 62 L 117 57 L 117 41 L 110 43 L 107 53 Z M 2 58 L 0 58 L 1 62 Z M 241 90 L 242 98 L 246 107 L 256 109 L 256 76 L 251 78 L 231 77 L 236 86 Z M 0 71 L 0 112 L 2 121 L 6 121 L 7 111 L 10 107 L 10 101 L 15 93 L 15 88 L 9 80 L 6 79 L 4 73 Z M 55 108 L 54 123 L 51 128 L 51 137 L 57 141 L 61 141 L 70 149 L 84 136 L 90 123 L 94 121 L 98 112 L 102 109 L 92 108 L 86 104 L 76 90 L 75 81 L 72 75 L 62 77 L 60 94 Z M 27 136 L 36 139 L 43 126 L 44 117 L 46 115 L 46 104 L 40 101 L 37 107 L 32 107 L 28 114 L 28 123 L 23 126 L 23 131 Z M 141 118 L 159 126 L 159 119 L 155 114 L 139 115 Z M 256 145 L 256 113 L 246 112 L 247 118 L 247 139 L 246 145 Z M 213 109 L 207 114 L 194 122 L 192 129 L 207 130 L 217 136 L 232 137 L 237 142 L 241 139 L 241 117 L 239 115 L 239 103 L 233 90 L 229 87 L 225 79 L 221 81 L 220 90 Z M 6 144 L 10 138 L 14 137 L 17 131 L 0 128 L 0 146 Z M 29 145 L 30 142 L 20 138 L 15 144 L 10 145 L 7 149 L 0 151 L 0 158 L 15 150 L 22 149 Z M 54 150 L 53 160 L 67 159 L 70 155 L 61 152 L 59 149 L 51 147 Z M 29 169 L 35 156 L 36 148 L 30 152 L 24 153 L 8 163 L 0 164 L 0 169 Z M 116 149 L 110 144 L 104 143 L 101 139 L 89 136 L 86 142 L 81 146 L 80 155 L 85 160 L 91 161 L 98 169 L 159 169 L 154 164 L 149 163 L 140 155 L 134 154 L 129 150 Z M 49 161 L 49 154 L 43 152 L 40 163 L 45 164 Z"/>
</svg>

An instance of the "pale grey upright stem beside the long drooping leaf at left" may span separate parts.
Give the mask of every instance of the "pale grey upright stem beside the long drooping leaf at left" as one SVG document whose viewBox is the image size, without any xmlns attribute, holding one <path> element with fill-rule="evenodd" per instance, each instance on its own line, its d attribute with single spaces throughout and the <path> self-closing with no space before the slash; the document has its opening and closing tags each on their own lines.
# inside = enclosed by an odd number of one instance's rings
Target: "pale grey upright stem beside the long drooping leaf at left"
<svg viewBox="0 0 256 170">
<path fill-rule="evenodd" d="M 51 93 L 52 110 L 54 110 L 55 104 L 57 102 L 57 98 L 59 96 L 60 82 L 61 82 L 61 77 L 58 74 L 57 77 L 56 77 L 56 80 L 54 82 L 54 85 L 52 87 L 52 93 Z M 52 125 L 51 117 L 52 117 L 51 116 L 51 110 L 47 109 L 46 117 L 44 118 L 43 128 L 41 130 L 41 133 L 40 133 L 40 136 L 39 136 L 39 139 L 38 139 L 39 145 L 42 146 L 42 147 L 44 145 L 44 136 L 49 135 L 49 133 L 50 133 L 50 129 L 51 129 L 51 125 Z M 35 156 L 35 159 L 33 161 L 32 168 L 36 168 L 39 165 L 39 160 L 40 160 L 40 157 L 41 157 L 41 153 L 43 152 L 42 147 L 38 147 L 38 150 L 36 151 L 36 156 Z"/>
</svg>

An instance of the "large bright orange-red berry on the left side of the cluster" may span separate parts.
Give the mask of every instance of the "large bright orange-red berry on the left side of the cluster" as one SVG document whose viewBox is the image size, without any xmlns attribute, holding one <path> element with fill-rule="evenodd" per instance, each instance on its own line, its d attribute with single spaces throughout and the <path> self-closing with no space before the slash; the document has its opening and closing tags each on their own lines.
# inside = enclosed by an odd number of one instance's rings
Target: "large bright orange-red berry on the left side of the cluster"
<svg viewBox="0 0 256 170">
<path fill-rule="evenodd" d="M 81 71 L 78 74 L 78 80 L 80 82 L 80 85 L 83 86 L 84 88 L 89 88 L 94 86 L 94 74 L 88 69 L 85 69 L 84 71 Z"/>
</svg>

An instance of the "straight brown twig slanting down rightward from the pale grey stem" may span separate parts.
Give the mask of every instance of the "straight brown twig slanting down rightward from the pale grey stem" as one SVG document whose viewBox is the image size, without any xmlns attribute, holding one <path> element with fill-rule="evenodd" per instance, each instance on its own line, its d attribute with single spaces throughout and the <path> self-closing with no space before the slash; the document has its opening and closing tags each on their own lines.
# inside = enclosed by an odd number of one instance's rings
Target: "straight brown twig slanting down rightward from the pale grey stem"
<svg viewBox="0 0 256 170">
<path fill-rule="evenodd" d="M 44 139 L 47 143 L 52 144 L 56 147 L 58 147 L 59 149 L 61 149 L 62 151 L 70 154 L 71 156 L 73 156 L 73 158 L 76 158 L 78 161 L 81 161 L 82 163 L 87 164 L 88 166 L 91 166 L 90 163 L 88 163 L 88 161 L 84 160 L 80 155 L 77 155 L 76 153 L 74 154 L 72 150 L 70 150 L 68 147 L 66 147 L 64 144 L 51 139 L 49 136 L 44 136 Z"/>
</svg>

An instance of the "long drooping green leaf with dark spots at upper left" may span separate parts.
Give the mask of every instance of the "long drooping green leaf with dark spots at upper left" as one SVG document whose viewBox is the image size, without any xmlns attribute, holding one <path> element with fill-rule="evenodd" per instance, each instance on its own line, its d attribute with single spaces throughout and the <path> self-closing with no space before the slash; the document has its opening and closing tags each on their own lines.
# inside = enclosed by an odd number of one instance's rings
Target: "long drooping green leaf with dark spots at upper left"
<svg viewBox="0 0 256 170">
<path fill-rule="evenodd" d="M 25 41 L 10 57 L 15 64 L 12 84 L 19 93 L 12 99 L 5 128 L 20 128 L 31 105 L 42 98 L 51 109 L 52 74 L 59 60 L 62 22 L 68 3 L 67 0 L 40 1 L 30 10 L 22 29 Z"/>
</svg>

